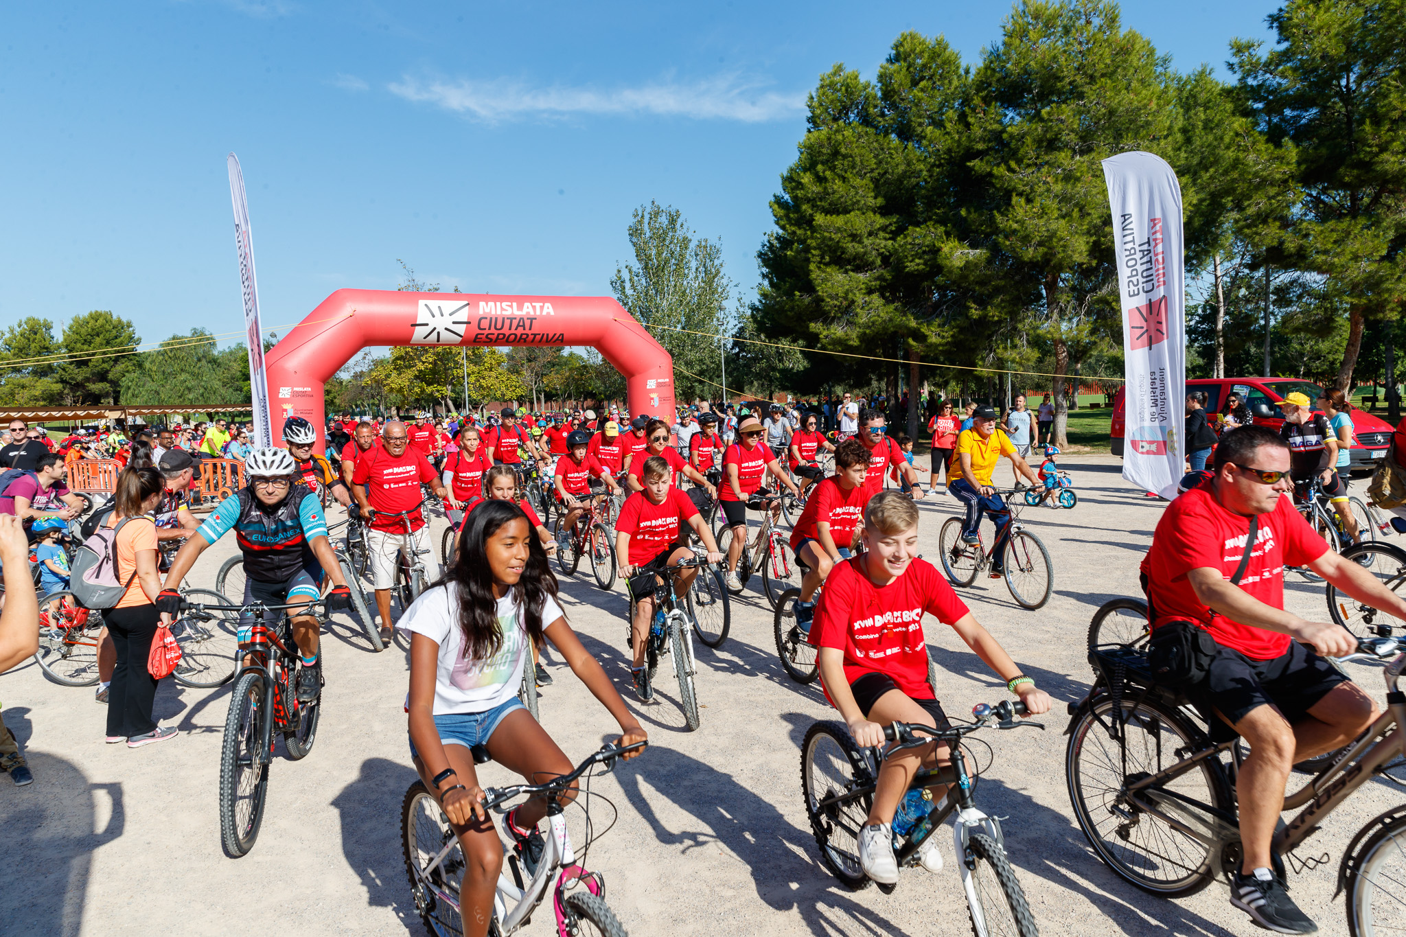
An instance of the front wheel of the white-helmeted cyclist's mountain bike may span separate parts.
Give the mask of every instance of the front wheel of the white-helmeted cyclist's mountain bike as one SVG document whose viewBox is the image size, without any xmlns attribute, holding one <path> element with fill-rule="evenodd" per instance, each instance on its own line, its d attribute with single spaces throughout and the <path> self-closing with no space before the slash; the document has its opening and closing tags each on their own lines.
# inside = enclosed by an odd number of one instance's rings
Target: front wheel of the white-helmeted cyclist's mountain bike
<svg viewBox="0 0 1406 937">
<path fill-rule="evenodd" d="M 263 750 L 264 674 L 246 673 L 235 683 L 219 752 L 219 839 L 225 854 L 239 858 L 259 837 L 269 764 Z"/>
</svg>

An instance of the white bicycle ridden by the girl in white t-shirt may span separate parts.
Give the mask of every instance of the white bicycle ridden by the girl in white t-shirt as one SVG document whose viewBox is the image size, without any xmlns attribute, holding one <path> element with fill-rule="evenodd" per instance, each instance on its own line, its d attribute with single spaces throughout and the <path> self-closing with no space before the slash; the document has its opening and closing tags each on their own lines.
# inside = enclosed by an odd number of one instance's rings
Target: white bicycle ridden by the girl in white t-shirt
<svg viewBox="0 0 1406 937">
<path fill-rule="evenodd" d="M 578 764 L 571 774 L 547 784 L 488 788 L 484 791 L 484 809 L 502 815 L 508 811 L 506 802 L 519 797 L 560 795 L 593 766 L 605 764 L 603 773 L 607 773 L 614 766 L 614 759 L 644 745 L 644 742 L 637 742 L 623 749 L 612 745 L 602 746 L 599 752 Z M 477 746 L 472 752 L 475 764 L 492 760 L 484 746 Z M 586 774 L 585 794 L 588 799 L 591 797 L 591 777 Z M 586 830 L 591 836 L 591 809 L 588 805 L 582 805 L 582 811 L 586 813 Z M 595 929 L 593 933 L 605 937 L 626 937 L 624 927 L 605 902 L 605 879 L 599 872 L 588 872 L 576 864 L 575 850 L 567 833 L 564 808 L 557 797 L 550 797 L 547 801 L 547 822 L 551 826 L 551 834 L 546 837 L 547 848 L 530 879 L 523 878 L 524 870 L 519 864 L 517 856 L 506 846 L 503 847 L 506 861 L 498 875 L 494 920 L 488 933 L 508 937 L 527 924 L 551 886 L 558 934 L 562 937 L 583 934 L 588 933 L 583 926 L 589 924 Z M 599 839 L 599 836 L 592 839 Z M 405 791 L 405 799 L 401 804 L 401 843 L 405 853 L 405 874 L 411 882 L 411 893 L 415 896 L 415 910 L 425 929 L 436 937 L 461 934 L 460 882 L 465 867 L 464 850 L 449 823 L 449 818 L 440 809 L 439 801 L 426 789 L 425 781 L 416 780 Z M 589 848 L 589 843 L 586 848 Z M 554 878 L 555 884 L 553 885 Z M 572 891 L 576 885 L 583 886 L 585 891 Z"/>
</svg>

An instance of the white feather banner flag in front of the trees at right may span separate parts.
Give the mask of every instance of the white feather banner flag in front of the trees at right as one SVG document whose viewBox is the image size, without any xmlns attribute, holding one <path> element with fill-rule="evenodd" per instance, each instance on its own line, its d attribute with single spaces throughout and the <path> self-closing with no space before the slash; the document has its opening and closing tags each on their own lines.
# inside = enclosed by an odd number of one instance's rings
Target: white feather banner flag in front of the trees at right
<svg viewBox="0 0 1406 937">
<path fill-rule="evenodd" d="M 1187 310 L 1181 185 L 1152 153 L 1104 160 L 1123 310 L 1123 478 L 1177 496 L 1187 458 Z"/>
</svg>

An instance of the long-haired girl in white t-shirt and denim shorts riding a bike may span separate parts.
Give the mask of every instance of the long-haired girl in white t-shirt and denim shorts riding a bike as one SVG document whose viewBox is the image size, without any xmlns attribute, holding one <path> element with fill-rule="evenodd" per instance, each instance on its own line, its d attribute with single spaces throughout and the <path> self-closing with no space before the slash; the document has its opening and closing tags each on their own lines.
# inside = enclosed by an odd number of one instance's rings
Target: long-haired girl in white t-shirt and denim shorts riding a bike
<svg viewBox="0 0 1406 937">
<path fill-rule="evenodd" d="M 543 636 L 551 641 L 620 723 L 621 746 L 644 742 L 645 733 L 567 624 L 547 553 L 512 502 L 488 502 L 468 516 L 458 556 L 443 584 L 415 600 L 396 627 L 411 632 L 411 757 L 464 847 L 464 936 L 484 937 L 494 916 L 503 850 L 481 805 L 484 788 L 471 749 L 485 746 L 495 761 L 529 784 L 572 770 L 557 743 L 517 701 L 527 642 Z M 572 785 L 562 801 L 572 799 L 575 789 Z M 537 830 L 546 815 L 547 801 L 534 798 L 506 816 L 508 833 L 529 875 L 546 847 Z"/>
</svg>

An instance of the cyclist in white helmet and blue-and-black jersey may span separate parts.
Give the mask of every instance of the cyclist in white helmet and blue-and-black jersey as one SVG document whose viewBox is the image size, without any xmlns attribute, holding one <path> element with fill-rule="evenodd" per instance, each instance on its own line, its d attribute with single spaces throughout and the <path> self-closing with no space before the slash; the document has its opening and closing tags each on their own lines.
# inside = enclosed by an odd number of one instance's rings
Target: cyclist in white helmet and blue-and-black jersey
<svg viewBox="0 0 1406 937">
<path fill-rule="evenodd" d="M 180 614 L 180 584 L 195 559 L 229 531 L 245 555 L 243 604 L 269 605 L 314 603 L 322 596 L 322 575 L 332 579 L 328 610 L 352 607 L 352 590 L 342 577 L 336 553 L 328 542 L 328 521 L 312 489 L 297 483 L 297 465 L 287 450 L 254 450 L 245 459 L 249 486 L 224 502 L 205 518 L 195 537 L 172 561 L 166 589 L 156 598 L 160 611 Z M 273 612 L 267 612 L 269 617 Z M 292 639 L 302 669 L 298 671 L 298 700 L 312 702 L 322 687 L 318 656 L 318 618 L 294 612 Z M 239 641 L 247 639 L 250 621 L 240 615 Z"/>
</svg>

